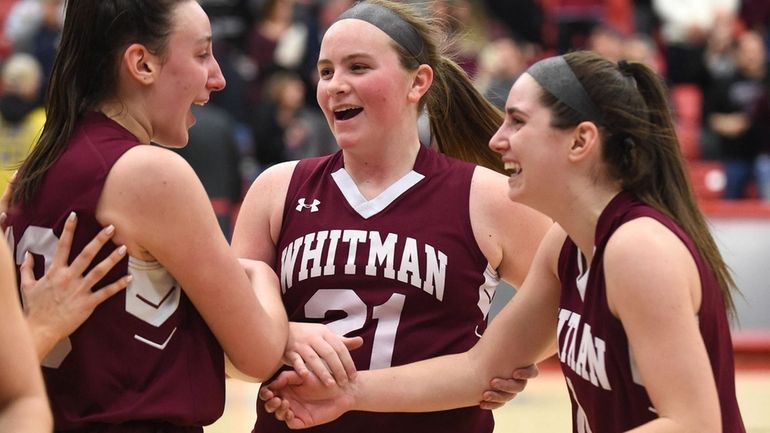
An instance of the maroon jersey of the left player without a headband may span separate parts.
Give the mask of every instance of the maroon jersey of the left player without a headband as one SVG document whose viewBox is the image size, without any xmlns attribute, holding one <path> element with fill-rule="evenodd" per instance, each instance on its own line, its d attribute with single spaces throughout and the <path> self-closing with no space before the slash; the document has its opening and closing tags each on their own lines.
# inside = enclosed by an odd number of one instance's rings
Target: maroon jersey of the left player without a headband
<svg viewBox="0 0 770 433">
<path fill-rule="evenodd" d="M 83 116 L 33 202 L 10 212 L 6 235 L 17 266 L 29 251 L 35 255 L 35 275 L 42 276 L 71 211 L 78 225 L 70 260 L 83 249 L 102 228 L 95 212 L 107 174 L 138 144 L 104 115 Z M 94 262 L 114 248 L 107 245 Z M 159 263 L 128 257 L 104 281 L 127 272 L 134 277 L 129 287 L 98 306 L 43 363 L 55 427 L 202 431 L 194 426 L 213 422 L 224 409 L 222 350 Z M 130 427 L 116 426 L 126 422 Z"/>
</svg>

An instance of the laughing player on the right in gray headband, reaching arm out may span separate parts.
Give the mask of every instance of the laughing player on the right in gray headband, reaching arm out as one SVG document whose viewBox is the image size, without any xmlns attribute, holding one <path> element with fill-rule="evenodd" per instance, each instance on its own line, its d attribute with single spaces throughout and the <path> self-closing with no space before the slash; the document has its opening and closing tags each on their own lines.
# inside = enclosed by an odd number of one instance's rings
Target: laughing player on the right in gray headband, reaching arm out
<svg viewBox="0 0 770 433">
<path fill-rule="evenodd" d="M 261 392 L 268 410 L 301 428 L 346 410 L 470 406 L 489 378 L 556 343 L 575 433 L 745 432 L 733 282 L 692 194 L 662 81 L 640 63 L 574 52 L 530 67 L 506 112 L 490 147 L 513 171 L 508 195 L 557 224 L 480 342 L 359 372 L 343 387 L 285 372 Z"/>
</svg>

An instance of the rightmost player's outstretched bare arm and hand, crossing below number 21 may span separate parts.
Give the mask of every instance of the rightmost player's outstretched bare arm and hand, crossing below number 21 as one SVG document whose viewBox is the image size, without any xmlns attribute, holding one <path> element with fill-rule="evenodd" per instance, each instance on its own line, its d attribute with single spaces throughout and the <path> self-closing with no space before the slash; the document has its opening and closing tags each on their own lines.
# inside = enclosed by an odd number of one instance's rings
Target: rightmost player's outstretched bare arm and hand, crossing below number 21
<svg viewBox="0 0 770 433">
<path fill-rule="evenodd" d="M 527 280 L 468 352 L 404 366 L 361 371 L 344 388 L 324 389 L 284 372 L 260 397 L 292 428 L 329 422 L 348 410 L 429 412 L 479 404 L 494 377 L 541 359 L 553 346 L 560 285 L 556 259 L 564 233 L 554 227 Z M 440 371 L 441 374 L 435 374 Z M 317 381 L 316 381 L 317 382 Z"/>
</svg>

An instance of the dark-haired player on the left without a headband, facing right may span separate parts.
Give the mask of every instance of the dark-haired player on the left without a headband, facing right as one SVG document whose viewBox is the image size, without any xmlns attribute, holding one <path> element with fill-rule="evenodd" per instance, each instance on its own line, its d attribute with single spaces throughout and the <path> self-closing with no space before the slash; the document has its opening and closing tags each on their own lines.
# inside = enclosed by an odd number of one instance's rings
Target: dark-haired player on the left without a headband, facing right
<svg viewBox="0 0 770 433">
<path fill-rule="evenodd" d="M 275 274 L 242 266 L 190 166 L 155 145 L 184 146 L 190 107 L 224 85 L 196 1 L 67 3 L 46 126 L 6 236 L 40 277 L 74 211 L 73 252 L 105 226 L 113 242 L 97 261 L 126 246 L 98 286 L 133 279 L 43 361 L 57 431 L 201 432 L 224 408 L 222 349 L 256 377 L 279 363 L 288 323 Z"/>
</svg>

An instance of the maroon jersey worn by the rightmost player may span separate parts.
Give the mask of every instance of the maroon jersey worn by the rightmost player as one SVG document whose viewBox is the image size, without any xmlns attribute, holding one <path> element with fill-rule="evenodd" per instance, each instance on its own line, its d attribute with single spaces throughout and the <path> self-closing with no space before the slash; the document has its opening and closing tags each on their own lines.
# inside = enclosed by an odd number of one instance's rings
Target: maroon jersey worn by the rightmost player
<svg viewBox="0 0 770 433">
<path fill-rule="evenodd" d="M 558 356 L 572 400 L 573 432 L 621 432 L 657 418 L 623 325 L 607 305 L 604 279 L 607 241 L 623 223 L 640 217 L 654 218 L 666 226 L 695 260 L 702 290 L 698 320 L 717 383 L 723 431 L 743 433 L 730 328 L 719 284 L 692 239 L 671 218 L 628 192 L 613 198 L 599 217 L 590 269 L 569 238 L 559 257 Z"/>
</svg>

